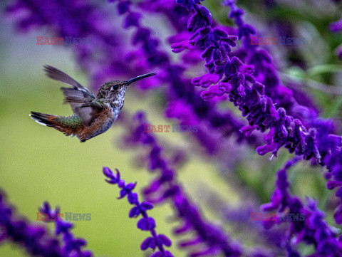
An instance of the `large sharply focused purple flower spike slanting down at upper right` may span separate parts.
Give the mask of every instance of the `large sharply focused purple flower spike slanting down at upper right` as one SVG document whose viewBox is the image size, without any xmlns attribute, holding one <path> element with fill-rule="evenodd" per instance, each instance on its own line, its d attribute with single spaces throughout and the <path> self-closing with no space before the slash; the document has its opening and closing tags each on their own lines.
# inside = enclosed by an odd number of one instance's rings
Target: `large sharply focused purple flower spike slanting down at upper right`
<svg viewBox="0 0 342 257">
<path fill-rule="evenodd" d="M 306 130 L 300 120 L 286 115 L 284 108 L 276 110 L 271 98 L 264 94 L 264 85 L 257 82 L 252 75 L 254 66 L 242 63 L 235 56 L 231 59 L 227 56 L 230 51 L 227 44 L 235 46 L 237 37 L 232 38 L 224 31 L 210 28 L 210 23 L 207 22 L 209 11 L 204 11 L 204 9 L 206 9 L 204 6 L 201 6 L 201 9 L 198 6 L 194 7 L 194 16 L 202 22 L 193 25 L 192 19 L 189 20 L 191 22 L 188 28 L 195 31 L 194 36 L 189 41 L 172 45 L 173 51 L 184 50 L 185 48 L 181 46 L 188 43 L 199 45 L 203 49 L 202 57 L 206 58 L 205 65 L 209 73 L 194 78 L 192 83 L 195 85 L 207 88 L 212 83 L 218 83 L 225 75 L 220 83 L 202 92 L 202 98 L 210 99 L 216 95 L 228 93 L 229 100 L 239 106 L 242 115 L 249 120 L 249 126 L 242 127 L 242 132 L 247 135 L 255 129 L 264 132 L 271 128 L 266 140 L 267 145 L 257 149 L 259 154 L 272 152 L 276 155 L 279 148 L 285 146 L 289 152 L 304 155 L 306 159 L 314 156 L 317 162 L 321 162 L 321 156 L 315 144 L 316 130 Z"/>
</svg>

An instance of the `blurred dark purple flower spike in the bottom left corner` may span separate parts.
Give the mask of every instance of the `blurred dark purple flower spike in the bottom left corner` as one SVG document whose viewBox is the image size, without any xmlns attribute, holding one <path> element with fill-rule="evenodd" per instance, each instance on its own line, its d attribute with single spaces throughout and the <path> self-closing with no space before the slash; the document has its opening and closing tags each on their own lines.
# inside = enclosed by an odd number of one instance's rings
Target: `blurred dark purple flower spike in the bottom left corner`
<svg viewBox="0 0 342 257">
<path fill-rule="evenodd" d="M 11 241 L 25 248 L 32 256 L 69 257 L 58 240 L 44 226 L 31 224 L 16 216 L 14 207 L 5 201 L 0 191 L 0 243 Z"/>
</svg>

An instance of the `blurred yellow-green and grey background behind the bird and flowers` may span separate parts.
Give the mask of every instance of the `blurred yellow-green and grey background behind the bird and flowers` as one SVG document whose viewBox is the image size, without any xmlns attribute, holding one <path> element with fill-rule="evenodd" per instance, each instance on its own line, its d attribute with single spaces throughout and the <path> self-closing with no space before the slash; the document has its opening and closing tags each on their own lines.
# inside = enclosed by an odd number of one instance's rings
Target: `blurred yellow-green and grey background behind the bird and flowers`
<svg viewBox="0 0 342 257">
<path fill-rule="evenodd" d="M 137 189 L 141 189 L 153 176 L 139 165 L 142 150 L 123 149 L 120 137 L 127 131 L 120 125 L 113 125 L 105 134 L 81 144 L 76 138 L 64 137 L 61 132 L 38 125 L 28 117 L 32 110 L 56 115 L 71 114 L 71 108 L 62 104 L 63 95 L 59 89 L 62 84 L 48 79 L 42 65 L 60 68 L 83 85 L 88 85 L 88 78 L 78 70 L 68 47 L 36 45 L 36 36 L 51 36 L 48 29 L 18 33 L 14 19 L 4 14 L 5 6 L 10 2 L 1 1 L 0 4 L 0 187 L 6 191 L 8 201 L 16 205 L 18 214 L 31 221 L 36 221 L 38 206 L 46 200 L 52 206 L 61 206 L 62 213 L 91 213 L 91 221 L 74 222 L 73 232 L 86 238 L 87 248 L 95 256 L 143 256 L 140 243 L 147 232 L 138 231 L 136 221 L 128 219 L 130 206 L 127 201 L 116 199 L 118 188 L 106 184 L 102 174 L 103 166 L 118 168 L 127 182 L 136 181 Z M 323 71 L 308 79 L 341 86 L 341 74 L 338 73 L 341 66 L 333 51 L 342 38 L 327 30 L 329 21 L 338 19 L 338 9 L 327 9 L 321 3 L 323 1 L 300 1 L 299 4 L 279 1 L 279 8 L 267 12 L 265 2 L 238 1 L 238 4 L 247 10 L 247 21 L 259 25 L 261 34 L 264 31 L 276 33 L 272 30 L 275 20 L 296 24 L 296 33 L 305 35 L 305 46 L 297 48 L 296 53 L 284 46 L 274 46 L 269 51 L 274 53 L 284 78 L 296 79 L 301 90 L 312 95 L 322 116 L 335 117 L 338 124 L 341 120 L 341 95 L 325 93 L 302 83 L 309 68 L 319 67 Z M 316 3 L 314 6 L 313 2 Z M 229 10 L 222 9 L 218 1 L 204 1 L 204 5 L 219 21 L 231 24 L 227 19 Z M 115 16 L 116 11 L 111 8 Z M 145 23 L 155 26 L 149 19 Z M 159 30 L 167 33 L 167 28 L 163 30 L 162 26 L 167 24 L 160 21 Z M 306 68 L 296 65 L 296 58 L 304 60 Z M 122 79 L 128 78 L 123 76 Z M 161 102 L 158 90 L 142 94 L 136 88 L 130 88 L 124 110 L 128 114 L 145 110 L 152 124 L 171 125 L 172 120 L 166 120 L 162 113 Z M 224 107 L 236 110 L 231 105 Z M 186 134 L 160 133 L 157 136 L 170 149 L 175 147 L 185 152 L 187 162 L 178 169 L 178 176 L 186 192 L 201 206 L 204 216 L 234 233 L 234 238 L 252 246 L 253 237 L 257 235 L 251 235 L 248 228 L 236 228 L 224 221 L 209 201 L 212 197 L 221 199 L 232 209 L 244 206 L 246 199 L 257 204 L 269 201 L 274 188 L 274 174 L 289 154 L 281 150 L 279 157 L 270 162 L 268 157 L 257 156 L 255 150 L 242 145 L 237 147 L 239 154 L 243 154 L 236 158 L 237 162 L 222 166 L 217 164 L 215 157 L 204 157 L 199 146 L 188 140 Z M 230 158 L 234 159 L 234 154 L 227 153 L 227 162 Z M 328 209 L 327 219 L 333 224 L 330 211 L 334 199 L 325 189 L 321 170 L 301 164 L 291 169 L 289 177 L 293 192 L 301 197 L 309 195 L 318 199 L 320 207 Z M 242 192 L 241 188 L 246 186 L 250 191 Z M 173 216 L 170 205 L 157 206 L 150 214 L 157 221 L 157 231 L 172 238 L 170 251 L 175 256 L 185 256 L 184 251 L 177 250 L 179 238 L 172 236 L 172 228 L 177 221 L 170 222 Z M 304 251 L 310 252 L 311 249 Z M 0 246 L 0 256 L 26 255 L 14 244 L 4 243 Z"/>
</svg>

